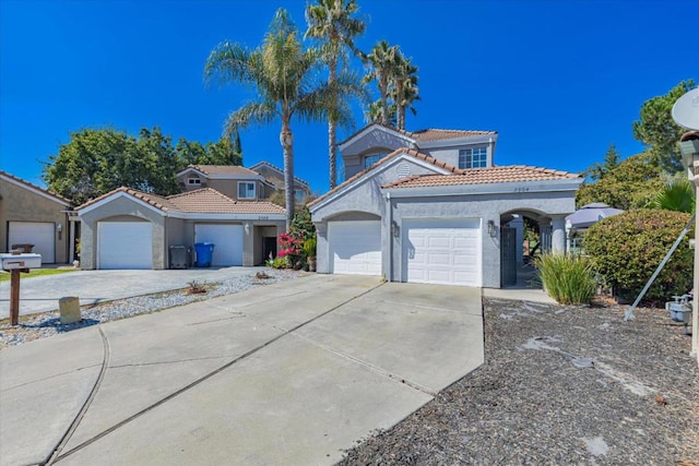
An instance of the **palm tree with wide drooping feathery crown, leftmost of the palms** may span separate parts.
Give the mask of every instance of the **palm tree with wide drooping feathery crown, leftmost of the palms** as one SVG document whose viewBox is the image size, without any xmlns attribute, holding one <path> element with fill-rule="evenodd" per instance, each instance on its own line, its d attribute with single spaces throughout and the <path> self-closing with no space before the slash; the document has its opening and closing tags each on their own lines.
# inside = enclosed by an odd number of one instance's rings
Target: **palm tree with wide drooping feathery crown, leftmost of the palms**
<svg viewBox="0 0 699 466">
<path fill-rule="evenodd" d="M 333 105 L 340 92 L 351 94 L 356 88 L 345 76 L 334 85 L 315 81 L 320 55 L 304 49 L 296 25 L 288 12 L 279 9 L 260 47 L 253 50 L 239 44 L 224 41 L 211 51 L 204 67 L 204 80 L 221 84 L 242 83 L 257 89 L 258 99 L 230 112 L 226 133 L 252 124 L 269 124 L 277 118 L 282 122 L 280 143 L 284 153 L 284 190 L 286 198 L 286 228 L 294 216 L 294 133 L 292 119 L 321 121 L 329 109 L 337 121 L 350 119 L 345 105 Z"/>
</svg>

